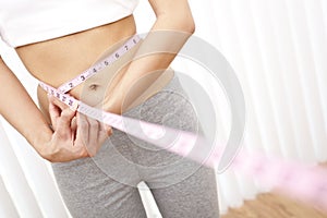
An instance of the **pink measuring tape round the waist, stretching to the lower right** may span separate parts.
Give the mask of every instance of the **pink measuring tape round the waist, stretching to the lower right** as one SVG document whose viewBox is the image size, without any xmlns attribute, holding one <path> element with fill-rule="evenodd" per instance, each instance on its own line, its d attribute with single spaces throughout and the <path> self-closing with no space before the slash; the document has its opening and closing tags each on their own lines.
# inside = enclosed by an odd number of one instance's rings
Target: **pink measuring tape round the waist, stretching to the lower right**
<svg viewBox="0 0 327 218">
<path fill-rule="evenodd" d="M 118 60 L 119 57 L 123 56 L 138 41 L 140 37 L 132 37 L 110 57 L 89 68 L 58 89 L 43 82 L 40 82 L 39 85 L 48 94 L 68 105 L 72 110 L 77 110 L 85 116 L 125 132 L 129 135 L 217 169 L 222 146 L 214 145 L 210 146 L 210 150 L 204 152 L 206 140 L 201 135 L 106 112 L 65 94 L 88 77 L 95 75 L 101 69 Z M 142 126 L 143 133 L 133 126 Z M 162 135 L 165 135 L 166 140 L 162 140 Z M 167 138 L 169 138 L 169 141 Z M 172 143 L 167 144 L 167 142 Z M 239 153 L 231 167 L 256 178 L 268 186 L 280 190 L 282 193 L 299 198 L 312 206 L 317 206 L 327 213 L 327 172 L 325 169 L 277 158 L 268 159 L 262 155 L 246 154 L 245 152 Z"/>
</svg>

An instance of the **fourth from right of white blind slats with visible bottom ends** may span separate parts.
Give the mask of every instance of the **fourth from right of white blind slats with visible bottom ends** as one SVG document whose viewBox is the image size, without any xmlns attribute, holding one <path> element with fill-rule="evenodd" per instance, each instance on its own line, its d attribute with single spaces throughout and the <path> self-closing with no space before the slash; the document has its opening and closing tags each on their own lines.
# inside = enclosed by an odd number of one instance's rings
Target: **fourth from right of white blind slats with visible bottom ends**
<svg viewBox="0 0 327 218">
<path fill-rule="evenodd" d="M 258 123 L 258 134 L 262 135 L 265 152 L 268 156 L 279 155 L 279 137 L 276 134 L 276 122 L 271 110 L 271 101 L 267 92 L 265 72 L 262 65 L 261 52 L 257 45 L 257 37 L 254 32 L 253 19 L 250 13 L 250 2 L 230 1 L 232 14 L 237 21 L 238 36 L 241 41 L 240 51 L 245 61 L 246 80 L 251 95 L 255 99 L 255 114 Z"/>
</svg>

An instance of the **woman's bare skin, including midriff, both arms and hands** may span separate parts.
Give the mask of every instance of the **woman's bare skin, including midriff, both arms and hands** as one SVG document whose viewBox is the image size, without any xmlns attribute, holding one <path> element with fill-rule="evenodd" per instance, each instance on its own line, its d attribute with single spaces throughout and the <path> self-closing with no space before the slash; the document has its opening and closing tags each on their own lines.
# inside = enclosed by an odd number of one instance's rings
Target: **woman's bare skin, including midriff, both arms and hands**
<svg viewBox="0 0 327 218">
<path fill-rule="evenodd" d="M 94 106 L 121 114 L 159 92 L 170 81 L 172 72 L 166 69 L 193 34 L 193 17 L 186 0 L 149 0 L 149 3 L 157 19 L 133 53 L 142 58 L 122 68 L 100 72 L 98 77 L 72 89 L 70 95 L 77 99 L 82 90 L 86 96 L 101 95 L 102 100 L 94 102 Z M 121 39 L 135 33 L 134 17 L 131 15 L 111 24 L 15 49 L 32 75 L 59 87 L 105 53 L 110 53 Z M 47 97 L 40 88 L 38 108 L 2 59 L 0 81 L 5 81 L 0 87 L 0 114 L 49 161 L 95 156 L 112 133 L 110 126 L 71 111 L 53 97 Z M 108 83 L 101 84 L 99 81 Z"/>
</svg>

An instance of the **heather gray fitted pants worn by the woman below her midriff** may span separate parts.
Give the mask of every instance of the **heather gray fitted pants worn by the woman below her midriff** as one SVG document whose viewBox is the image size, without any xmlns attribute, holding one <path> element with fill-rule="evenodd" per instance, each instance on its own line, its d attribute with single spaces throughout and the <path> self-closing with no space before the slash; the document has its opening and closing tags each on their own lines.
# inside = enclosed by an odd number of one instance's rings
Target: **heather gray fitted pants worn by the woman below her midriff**
<svg viewBox="0 0 327 218">
<path fill-rule="evenodd" d="M 123 116 L 202 132 L 178 76 Z M 94 158 L 52 164 L 73 217 L 146 217 L 136 185 L 144 181 L 164 218 L 219 217 L 215 172 L 121 131 Z"/>
</svg>

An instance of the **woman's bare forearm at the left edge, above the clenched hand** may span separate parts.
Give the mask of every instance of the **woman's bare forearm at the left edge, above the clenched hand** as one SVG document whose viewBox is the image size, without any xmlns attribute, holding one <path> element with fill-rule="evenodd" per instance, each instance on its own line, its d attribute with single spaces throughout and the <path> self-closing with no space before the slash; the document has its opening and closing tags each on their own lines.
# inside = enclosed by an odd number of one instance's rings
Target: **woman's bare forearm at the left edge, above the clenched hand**
<svg viewBox="0 0 327 218">
<path fill-rule="evenodd" d="M 0 114 L 38 152 L 52 133 L 43 113 L 0 57 Z"/>
</svg>

